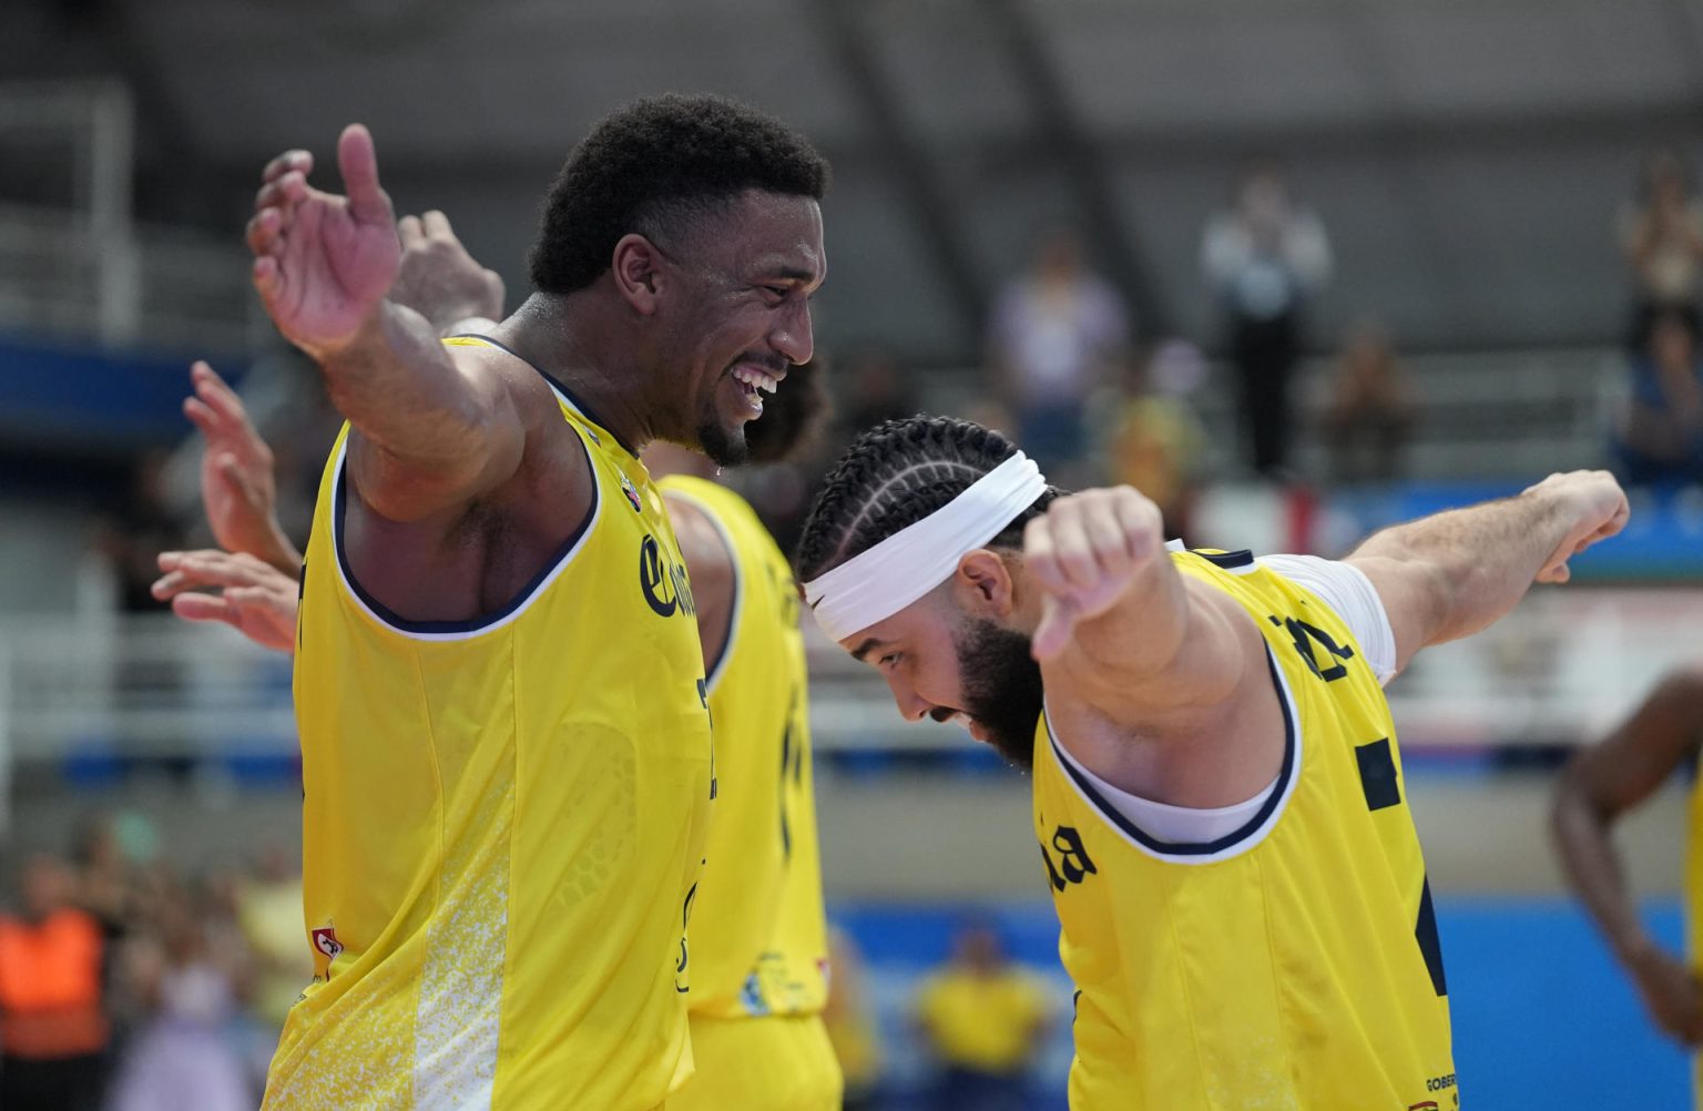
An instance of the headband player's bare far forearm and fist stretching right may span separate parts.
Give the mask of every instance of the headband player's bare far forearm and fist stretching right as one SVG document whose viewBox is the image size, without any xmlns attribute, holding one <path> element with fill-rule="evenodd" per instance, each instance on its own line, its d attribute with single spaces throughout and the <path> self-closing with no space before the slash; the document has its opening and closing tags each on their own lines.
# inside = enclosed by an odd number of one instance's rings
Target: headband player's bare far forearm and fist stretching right
<svg viewBox="0 0 1703 1111">
<path fill-rule="evenodd" d="M 1386 528 L 1345 562 L 1378 590 L 1400 670 L 1420 648 L 1494 624 L 1533 583 L 1565 583 L 1567 561 L 1618 533 L 1626 513 L 1606 470 L 1551 474 L 1517 498 Z"/>
</svg>

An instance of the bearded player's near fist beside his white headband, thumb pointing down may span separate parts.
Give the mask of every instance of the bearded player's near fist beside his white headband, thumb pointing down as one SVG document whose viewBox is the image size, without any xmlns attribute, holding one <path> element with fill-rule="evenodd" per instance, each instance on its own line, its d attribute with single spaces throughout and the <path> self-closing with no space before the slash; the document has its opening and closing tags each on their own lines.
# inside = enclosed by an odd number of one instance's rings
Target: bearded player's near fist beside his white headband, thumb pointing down
<svg viewBox="0 0 1703 1111">
<path fill-rule="evenodd" d="M 1024 564 L 1041 583 L 1035 659 L 1052 659 L 1078 622 L 1100 617 L 1156 559 L 1165 557 L 1160 511 L 1134 487 L 1056 499 L 1024 528 Z"/>
</svg>

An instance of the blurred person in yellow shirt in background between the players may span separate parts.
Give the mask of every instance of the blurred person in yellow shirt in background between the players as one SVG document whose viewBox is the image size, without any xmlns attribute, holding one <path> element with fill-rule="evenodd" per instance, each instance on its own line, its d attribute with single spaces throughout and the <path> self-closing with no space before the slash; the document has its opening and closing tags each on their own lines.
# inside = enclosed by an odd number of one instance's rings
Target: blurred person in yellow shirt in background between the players
<svg viewBox="0 0 1703 1111">
<path fill-rule="evenodd" d="M 949 964 L 918 992 L 916 1021 L 942 1068 L 940 1111 L 1022 1111 L 1046 1038 L 1047 995 L 1035 975 L 1006 959 L 991 925 L 959 930 Z"/>
</svg>

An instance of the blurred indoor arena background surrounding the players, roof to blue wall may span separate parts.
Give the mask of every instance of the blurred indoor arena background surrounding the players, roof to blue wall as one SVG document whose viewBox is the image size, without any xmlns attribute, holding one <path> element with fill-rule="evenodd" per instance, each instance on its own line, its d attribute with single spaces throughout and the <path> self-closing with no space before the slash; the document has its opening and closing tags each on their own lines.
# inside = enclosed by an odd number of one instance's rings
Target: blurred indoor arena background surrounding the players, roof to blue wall
<svg viewBox="0 0 1703 1111">
<path fill-rule="evenodd" d="M 993 366 L 1049 343 L 1013 307 L 1046 273 L 1100 298 L 1105 339 L 1058 474 L 1151 484 L 1190 544 L 1337 556 L 1551 470 L 1635 481 L 1631 527 L 1574 584 L 1390 694 L 1468 1106 L 1686 1106 L 1684 1055 L 1562 888 L 1548 796 L 1572 746 L 1703 649 L 1703 489 L 1625 435 L 1652 358 L 1628 242 L 1652 177 L 1703 204 L 1703 3 L 7 0 L 0 43 L 0 886 L 48 852 L 123 893 L 153 941 L 114 971 L 126 1029 L 158 1005 L 150 959 L 216 970 L 198 1016 L 252 1074 L 301 976 L 262 939 L 300 935 L 288 661 L 146 596 L 153 552 L 206 542 L 189 360 L 240 382 L 298 540 L 334 431 L 247 279 L 261 165 L 307 147 L 335 187 L 339 128 L 370 124 L 397 211 L 446 211 L 513 307 L 538 198 L 591 123 L 714 90 L 834 167 L 814 307 L 840 416 L 811 463 L 739 479 L 783 544 L 870 421 L 1022 424 Z M 1259 276 L 1214 254 L 1250 174 L 1306 244 L 1293 417 L 1259 467 L 1230 339 Z M 1660 290 L 1693 344 L 1700 274 Z M 1071 992 L 1027 780 L 903 724 L 811 636 L 824 881 L 860 954 L 874 1106 L 916 1106 L 918 990 L 991 924 L 1046 983 L 1032 1106 L 1063 1108 Z M 1688 782 L 1620 837 L 1674 946 Z"/>
</svg>

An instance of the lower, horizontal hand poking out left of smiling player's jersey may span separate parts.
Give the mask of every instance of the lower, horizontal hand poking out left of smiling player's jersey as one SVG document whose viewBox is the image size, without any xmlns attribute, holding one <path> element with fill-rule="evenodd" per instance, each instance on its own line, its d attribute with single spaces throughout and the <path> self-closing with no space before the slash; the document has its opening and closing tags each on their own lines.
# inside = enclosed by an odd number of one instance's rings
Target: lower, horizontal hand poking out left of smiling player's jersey
<svg viewBox="0 0 1703 1111">
<path fill-rule="evenodd" d="M 153 596 L 184 620 L 221 620 L 261 648 L 296 651 L 296 581 L 254 556 L 160 552 Z M 215 588 L 220 593 L 203 593 Z"/>
</svg>

